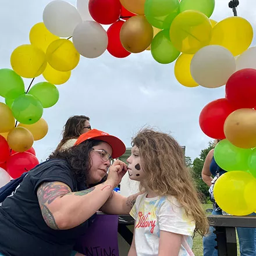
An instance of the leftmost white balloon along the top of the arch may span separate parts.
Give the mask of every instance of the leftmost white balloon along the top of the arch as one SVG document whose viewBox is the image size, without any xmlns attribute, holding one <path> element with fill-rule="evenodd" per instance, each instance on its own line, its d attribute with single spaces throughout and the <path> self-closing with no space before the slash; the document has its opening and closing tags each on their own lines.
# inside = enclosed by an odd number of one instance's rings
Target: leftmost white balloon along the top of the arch
<svg viewBox="0 0 256 256">
<path fill-rule="evenodd" d="M 77 24 L 82 22 L 78 10 L 70 3 L 55 0 L 45 6 L 42 14 L 45 27 L 58 37 L 70 37 Z"/>
</svg>

